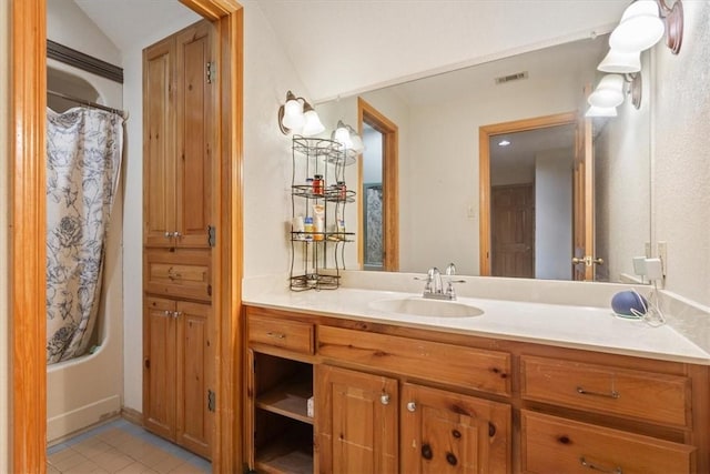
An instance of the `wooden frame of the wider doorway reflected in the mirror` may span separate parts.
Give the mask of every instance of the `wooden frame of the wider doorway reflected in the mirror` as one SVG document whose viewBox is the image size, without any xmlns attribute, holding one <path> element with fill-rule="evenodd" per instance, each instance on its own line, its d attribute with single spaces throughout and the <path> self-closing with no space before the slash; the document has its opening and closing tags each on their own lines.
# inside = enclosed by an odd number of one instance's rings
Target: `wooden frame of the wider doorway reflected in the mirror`
<svg viewBox="0 0 710 474">
<path fill-rule="evenodd" d="M 503 133 L 525 132 L 548 127 L 577 123 L 577 112 L 557 113 L 534 119 L 514 120 L 478 129 L 478 193 L 479 193 L 479 274 L 490 276 L 490 138 Z"/>
</svg>

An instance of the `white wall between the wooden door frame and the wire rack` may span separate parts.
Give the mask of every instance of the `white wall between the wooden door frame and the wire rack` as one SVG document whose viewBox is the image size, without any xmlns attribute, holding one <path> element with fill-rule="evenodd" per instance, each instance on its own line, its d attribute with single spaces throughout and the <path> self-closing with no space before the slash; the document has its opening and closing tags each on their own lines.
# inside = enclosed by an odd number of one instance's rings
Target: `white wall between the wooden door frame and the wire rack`
<svg viewBox="0 0 710 474">
<path fill-rule="evenodd" d="M 291 135 L 276 112 L 286 91 L 310 98 L 258 2 L 244 6 L 244 275 L 286 274 L 291 245 Z M 351 122 L 352 123 L 352 122 Z M 324 124 L 328 130 L 335 123 Z M 284 285 L 286 280 L 284 279 Z"/>
</svg>

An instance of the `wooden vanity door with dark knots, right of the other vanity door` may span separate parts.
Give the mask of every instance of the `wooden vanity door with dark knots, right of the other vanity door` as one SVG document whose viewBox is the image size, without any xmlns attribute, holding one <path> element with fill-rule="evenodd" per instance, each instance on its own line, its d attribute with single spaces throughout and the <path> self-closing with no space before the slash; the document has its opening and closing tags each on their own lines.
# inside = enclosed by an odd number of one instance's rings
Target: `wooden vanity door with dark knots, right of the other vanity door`
<svg viewBox="0 0 710 474">
<path fill-rule="evenodd" d="M 403 473 L 510 472 L 509 405 L 414 384 L 399 405 Z"/>
</svg>

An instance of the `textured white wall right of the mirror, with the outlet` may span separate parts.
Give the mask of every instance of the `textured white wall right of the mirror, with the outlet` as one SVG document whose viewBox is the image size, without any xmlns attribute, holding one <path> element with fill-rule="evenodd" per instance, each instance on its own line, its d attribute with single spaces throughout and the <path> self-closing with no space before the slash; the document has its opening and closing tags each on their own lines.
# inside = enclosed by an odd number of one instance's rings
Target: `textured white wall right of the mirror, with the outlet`
<svg viewBox="0 0 710 474">
<path fill-rule="evenodd" d="M 653 240 L 668 242 L 666 289 L 710 305 L 710 2 L 683 10 L 680 54 L 653 50 Z"/>
</svg>

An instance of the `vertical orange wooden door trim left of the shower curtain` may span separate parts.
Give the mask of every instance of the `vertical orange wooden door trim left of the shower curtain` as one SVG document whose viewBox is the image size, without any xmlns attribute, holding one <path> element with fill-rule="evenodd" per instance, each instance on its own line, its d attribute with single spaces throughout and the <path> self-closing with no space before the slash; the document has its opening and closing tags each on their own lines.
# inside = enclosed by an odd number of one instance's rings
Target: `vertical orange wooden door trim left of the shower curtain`
<svg viewBox="0 0 710 474">
<path fill-rule="evenodd" d="M 10 466 L 43 473 L 47 440 L 44 0 L 10 3 Z"/>
</svg>

